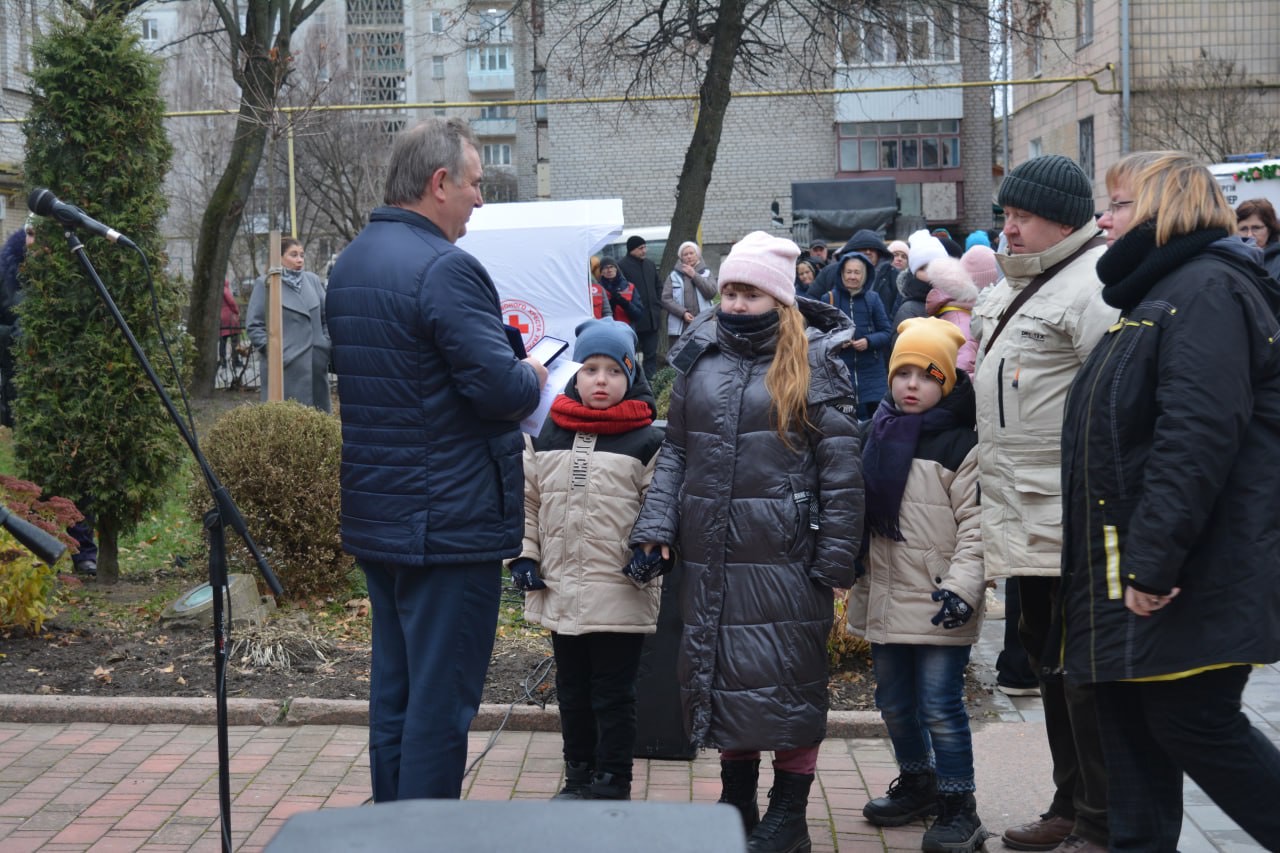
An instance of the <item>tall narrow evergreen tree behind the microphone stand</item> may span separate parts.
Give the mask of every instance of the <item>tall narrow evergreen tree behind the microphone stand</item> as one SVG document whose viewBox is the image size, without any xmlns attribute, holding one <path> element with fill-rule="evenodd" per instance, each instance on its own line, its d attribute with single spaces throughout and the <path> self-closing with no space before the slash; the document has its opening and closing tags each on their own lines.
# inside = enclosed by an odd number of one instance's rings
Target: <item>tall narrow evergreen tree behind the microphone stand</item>
<svg viewBox="0 0 1280 853">
<path fill-rule="evenodd" d="M 128 5 L 65 4 L 65 19 L 35 45 L 26 177 L 29 187 L 51 188 L 138 245 L 154 264 L 160 321 L 178 342 L 186 341 L 178 330 L 179 295 L 164 274 L 159 236 L 172 156 L 160 65 L 125 24 Z M 84 232 L 81 238 L 163 371 L 142 260 Z M 27 476 L 97 516 L 99 580 L 115 583 L 119 535 L 163 500 L 178 469 L 180 438 L 54 220 L 40 222 L 23 274 L 15 455 Z"/>
</svg>

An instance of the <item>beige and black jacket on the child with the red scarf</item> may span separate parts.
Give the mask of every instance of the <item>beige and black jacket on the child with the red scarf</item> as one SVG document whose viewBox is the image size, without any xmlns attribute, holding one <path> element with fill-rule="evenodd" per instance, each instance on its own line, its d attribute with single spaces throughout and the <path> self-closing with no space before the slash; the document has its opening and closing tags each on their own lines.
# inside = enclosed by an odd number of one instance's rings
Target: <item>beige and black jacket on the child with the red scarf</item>
<svg viewBox="0 0 1280 853">
<path fill-rule="evenodd" d="M 662 578 L 637 589 L 622 566 L 631 558 L 627 535 L 660 443 L 662 430 L 653 426 L 622 435 L 552 426 L 539 435 L 536 452 L 525 438 L 520 556 L 539 564 L 547 584 L 525 593 L 526 620 L 566 635 L 657 630 Z"/>
</svg>

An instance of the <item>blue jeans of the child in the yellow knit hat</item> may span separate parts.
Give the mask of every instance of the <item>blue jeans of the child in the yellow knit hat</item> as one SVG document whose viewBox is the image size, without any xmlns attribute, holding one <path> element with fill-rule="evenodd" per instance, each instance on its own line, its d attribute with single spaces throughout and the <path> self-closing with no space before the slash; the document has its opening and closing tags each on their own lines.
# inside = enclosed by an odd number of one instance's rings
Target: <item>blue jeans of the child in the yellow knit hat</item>
<svg viewBox="0 0 1280 853">
<path fill-rule="evenodd" d="M 938 789 L 969 792 L 973 735 L 964 707 L 972 646 L 872 643 L 876 706 L 902 772 L 936 768 Z"/>
</svg>

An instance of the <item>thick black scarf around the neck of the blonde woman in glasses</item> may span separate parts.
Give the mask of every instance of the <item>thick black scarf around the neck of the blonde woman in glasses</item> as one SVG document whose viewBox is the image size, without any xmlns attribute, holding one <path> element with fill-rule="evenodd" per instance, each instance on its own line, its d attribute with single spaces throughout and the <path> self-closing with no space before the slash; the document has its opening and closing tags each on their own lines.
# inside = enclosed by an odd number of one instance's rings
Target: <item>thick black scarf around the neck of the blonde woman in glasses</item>
<svg viewBox="0 0 1280 853">
<path fill-rule="evenodd" d="M 1112 243 L 1098 259 L 1102 301 L 1121 311 L 1132 311 L 1160 279 L 1226 236 L 1222 228 L 1206 228 L 1156 246 L 1156 220 L 1148 219 Z"/>
</svg>

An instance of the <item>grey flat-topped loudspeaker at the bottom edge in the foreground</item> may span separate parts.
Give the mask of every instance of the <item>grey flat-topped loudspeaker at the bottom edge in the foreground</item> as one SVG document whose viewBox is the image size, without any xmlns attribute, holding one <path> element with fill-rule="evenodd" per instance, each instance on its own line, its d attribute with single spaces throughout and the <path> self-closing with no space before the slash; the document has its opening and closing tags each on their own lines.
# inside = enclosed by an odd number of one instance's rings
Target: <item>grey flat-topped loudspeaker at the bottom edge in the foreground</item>
<svg viewBox="0 0 1280 853">
<path fill-rule="evenodd" d="M 742 817 L 714 803 L 411 799 L 302 812 L 266 853 L 744 853 Z"/>
</svg>

